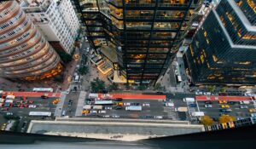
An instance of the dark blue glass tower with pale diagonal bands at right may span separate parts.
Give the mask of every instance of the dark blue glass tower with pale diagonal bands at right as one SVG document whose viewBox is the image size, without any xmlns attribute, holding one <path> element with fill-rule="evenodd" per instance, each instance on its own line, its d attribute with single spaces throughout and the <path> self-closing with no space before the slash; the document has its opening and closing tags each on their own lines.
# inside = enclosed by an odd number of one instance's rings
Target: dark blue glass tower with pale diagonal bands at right
<svg viewBox="0 0 256 149">
<path fill-rule="evenodd" d="M 222 0 L 186 52 L 195 84 L 256 84 L 256 1 Z"/>
</svg>

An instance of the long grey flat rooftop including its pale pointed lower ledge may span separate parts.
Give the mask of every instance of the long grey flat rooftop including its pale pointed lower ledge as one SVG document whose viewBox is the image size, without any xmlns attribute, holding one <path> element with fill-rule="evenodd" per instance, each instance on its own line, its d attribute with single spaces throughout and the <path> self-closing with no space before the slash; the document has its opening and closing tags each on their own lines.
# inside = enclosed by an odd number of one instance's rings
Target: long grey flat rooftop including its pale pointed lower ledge
<svg viewBox="0 0 256 149">
<path fill-rule="evenodd" d="M 68 118 L 67 118 L 68 119 Z M 50 135 L 74 135 L 79 137 L 92 137 L 113 140 L 141 140 L 150 137 L 183 135 L 203 131 L 202 125 L 186 123 L 172 123 L 160 120 L 152 122 L 125 122 L 120 119 L 108 121 L 84 119 L 84 121 L 32 121 L 28 132 Z M 116 137 L 119 136 L 119 137 Z"/>
</svg>

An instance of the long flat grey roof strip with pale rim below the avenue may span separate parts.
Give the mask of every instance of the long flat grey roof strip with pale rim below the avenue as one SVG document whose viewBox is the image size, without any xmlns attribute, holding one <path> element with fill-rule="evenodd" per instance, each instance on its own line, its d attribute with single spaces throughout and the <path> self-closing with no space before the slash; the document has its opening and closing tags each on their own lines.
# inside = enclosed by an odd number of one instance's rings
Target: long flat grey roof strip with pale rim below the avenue
<svg viewBox="0 0 256 149">
<path fill-rule="evenodd" d="M 71 122 L 71 121 L 32 121 L 28 132 L 45 133 L 74 133 L 102 135 L 146 135 L 171 136 L 201 132 L 203 125 L 174 124 L 174 123 L 135 123 L 135 122 Z"/>
</svg>

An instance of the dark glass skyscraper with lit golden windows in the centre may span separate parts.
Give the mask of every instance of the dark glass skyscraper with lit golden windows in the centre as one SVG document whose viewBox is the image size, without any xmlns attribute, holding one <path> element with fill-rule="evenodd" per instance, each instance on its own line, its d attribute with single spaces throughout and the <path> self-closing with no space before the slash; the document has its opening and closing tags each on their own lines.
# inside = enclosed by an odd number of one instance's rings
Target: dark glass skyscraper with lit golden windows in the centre
<svg viewBox="0 0 256 149">
<path fill-rule="evenodd" d="M 183 40 L 200 0 L 73 0 L 90 45 L 125 83 L 154 84 Z M 101 63 L 102 64 L 102 63 Z M 106 66 L 98 66 L 100 70 Z M 102 68 L 102 69 L 101 69 Z M 104 72 L 101 71 L 101 72 Z"/>
</svg>

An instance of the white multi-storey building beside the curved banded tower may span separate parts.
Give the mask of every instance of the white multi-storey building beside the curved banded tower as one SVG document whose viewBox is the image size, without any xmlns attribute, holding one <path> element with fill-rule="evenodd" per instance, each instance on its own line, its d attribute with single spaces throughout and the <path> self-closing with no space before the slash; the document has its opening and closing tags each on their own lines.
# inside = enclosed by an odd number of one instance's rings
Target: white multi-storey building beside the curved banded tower
<svg viewBox="0 0 256 149">
<path fill-rule="evenodd" d="M 72 52 L 79 20 L 69 0 L 23 0 L 20 6 L 55 50 Z"/>
</svg>

